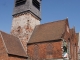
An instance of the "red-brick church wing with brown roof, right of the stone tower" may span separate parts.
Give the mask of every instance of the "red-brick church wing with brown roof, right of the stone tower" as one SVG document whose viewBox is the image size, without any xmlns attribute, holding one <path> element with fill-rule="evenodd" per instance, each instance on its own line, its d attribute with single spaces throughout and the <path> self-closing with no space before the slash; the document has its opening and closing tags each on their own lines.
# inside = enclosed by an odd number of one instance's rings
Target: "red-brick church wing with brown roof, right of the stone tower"
<svg viewBox="0 0 80 60">
<path fill-rule="evenodd" d="M 75 29 L 69 28 L 68 19 L 38 25 L 27 48 L 32 60 L 77 60 Z"/>
</svg>

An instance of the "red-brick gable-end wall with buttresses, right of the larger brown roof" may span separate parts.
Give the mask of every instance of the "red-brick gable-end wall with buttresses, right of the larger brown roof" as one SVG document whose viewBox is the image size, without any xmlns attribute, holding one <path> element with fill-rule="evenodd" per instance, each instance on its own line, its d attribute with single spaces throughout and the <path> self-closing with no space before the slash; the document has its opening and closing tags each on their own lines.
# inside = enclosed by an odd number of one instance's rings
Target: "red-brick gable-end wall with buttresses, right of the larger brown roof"
<svg viewBox="0 0 80 60">
<path fill-rule="evenodd" d="M 65 35 L 64 35 L 64 40 L 68 42 L 70 42 L 70 55 L 69 58 L 70 60 L 77 60 L 77 38 L 76 38 L 76 33 L 75 33 L 75 29 L 73 29 L 72 31 L 69 30 L 69 32 L 67 31 L 67 24 L 66 24 L 66 30 L 65 30 Z"/>
</svg>

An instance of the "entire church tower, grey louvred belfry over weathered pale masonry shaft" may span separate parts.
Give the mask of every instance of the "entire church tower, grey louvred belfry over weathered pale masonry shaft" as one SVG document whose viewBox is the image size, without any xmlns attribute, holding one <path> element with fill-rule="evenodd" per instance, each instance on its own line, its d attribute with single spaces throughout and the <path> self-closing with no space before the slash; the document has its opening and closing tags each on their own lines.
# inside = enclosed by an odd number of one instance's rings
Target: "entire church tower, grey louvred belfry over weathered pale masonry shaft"
<svg viewBox="0 0 80 60">
<path fill-rule="evenodd" d="M 41 0 L 15 0 L 11 34 L 18 37 L 27 50 L 27 42 L 41 20 Z"/>
</svg>

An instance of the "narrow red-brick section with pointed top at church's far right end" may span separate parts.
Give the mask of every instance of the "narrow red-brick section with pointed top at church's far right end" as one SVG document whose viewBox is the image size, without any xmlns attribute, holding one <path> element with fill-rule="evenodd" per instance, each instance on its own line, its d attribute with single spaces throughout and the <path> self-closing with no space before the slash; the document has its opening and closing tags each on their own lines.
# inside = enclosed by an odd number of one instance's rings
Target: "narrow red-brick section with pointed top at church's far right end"
<svg viewBox="0 0 80 60">
<path fill-rule="evenodd" d="M 77 34 L 75 32 L 75 28 L 70 29 L 70 48 L 71 48 L 71 52 L 70 52 L 70 59 L 71 60 L 78 60 L 78 38 L 77 38 Z"/>
</svg>

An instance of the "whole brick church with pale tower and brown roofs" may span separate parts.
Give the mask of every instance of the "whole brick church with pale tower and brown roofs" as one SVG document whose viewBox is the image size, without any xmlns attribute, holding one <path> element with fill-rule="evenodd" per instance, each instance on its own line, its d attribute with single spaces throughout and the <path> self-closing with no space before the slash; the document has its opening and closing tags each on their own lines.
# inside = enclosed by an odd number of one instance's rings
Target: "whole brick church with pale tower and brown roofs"
<svg viewBox="0 0 80 60">
<path fill-rule="evenodd" d="M 42 0 L 15 0 L 11 33 L 0 31 L 0 60 L 77 60 L 68 18 L 40 24 Z"/>
</svg>

